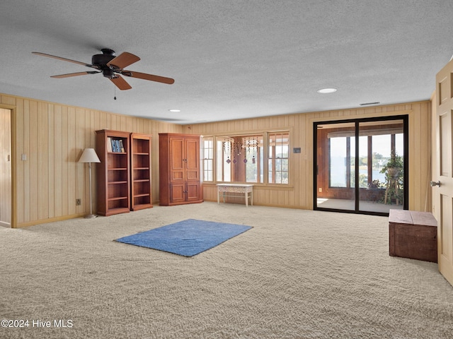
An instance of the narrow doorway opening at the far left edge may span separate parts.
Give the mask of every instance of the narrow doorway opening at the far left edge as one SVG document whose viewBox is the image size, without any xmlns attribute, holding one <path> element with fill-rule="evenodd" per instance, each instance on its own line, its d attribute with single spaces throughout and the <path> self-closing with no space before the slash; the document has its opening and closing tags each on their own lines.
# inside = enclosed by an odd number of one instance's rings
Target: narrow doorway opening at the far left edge
<svg viewBox="0 0 453 339">
<path fill-rule="evenodd" d="M 0 108 L 0 226 L 11 227 L 11 109 Z"/>
</svg>

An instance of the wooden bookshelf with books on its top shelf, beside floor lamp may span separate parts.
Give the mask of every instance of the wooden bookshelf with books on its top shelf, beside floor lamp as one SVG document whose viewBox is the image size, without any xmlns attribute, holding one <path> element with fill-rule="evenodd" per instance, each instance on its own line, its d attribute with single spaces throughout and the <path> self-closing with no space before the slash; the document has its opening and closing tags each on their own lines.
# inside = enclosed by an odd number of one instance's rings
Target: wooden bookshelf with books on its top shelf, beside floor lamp
<svg viewBox="0 0 453 339">
<path fill-rule="evenodd" d="M 130 133 L 96 131 L 98 214 L 130 211 Z"/>
</svg>

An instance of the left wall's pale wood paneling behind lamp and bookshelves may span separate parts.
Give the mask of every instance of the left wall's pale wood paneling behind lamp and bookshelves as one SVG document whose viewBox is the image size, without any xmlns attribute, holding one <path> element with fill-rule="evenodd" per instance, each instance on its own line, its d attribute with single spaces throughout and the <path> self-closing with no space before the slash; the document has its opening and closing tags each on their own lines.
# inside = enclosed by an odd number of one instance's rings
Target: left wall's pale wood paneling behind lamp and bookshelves
<svg viewBox="0 0 453 339">
<path fill-rule="evenodd" d="M 88 165 L 77 161 L 84 148 L 95 148 L 98 129 L 153 136 L 152 194 L 159 200 L 159 132 L 180 133 L 182 126 L 14 95 L 0 94 L 1 105 L 16 112 L 16 227 L 89 212 Z M 92 174 L 96 187 L 95 169 Z M 76 206 L 76 198 L 81 198 L 81 206 Z M 96 211 L 95 189 L 93 202 Z"/>
</svg>

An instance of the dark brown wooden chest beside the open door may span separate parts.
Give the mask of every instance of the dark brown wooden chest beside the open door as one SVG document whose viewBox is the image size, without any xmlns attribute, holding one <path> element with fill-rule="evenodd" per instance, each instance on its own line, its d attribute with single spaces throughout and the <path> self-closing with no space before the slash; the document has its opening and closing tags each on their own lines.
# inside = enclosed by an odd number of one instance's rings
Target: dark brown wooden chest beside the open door
<svg viewBox="0 0 453 339">
<path fill-rule="evenodd" d="M 391 256 L 437 263 L 437 221 L 431 213 L 390 210 Z"/>
</svg>

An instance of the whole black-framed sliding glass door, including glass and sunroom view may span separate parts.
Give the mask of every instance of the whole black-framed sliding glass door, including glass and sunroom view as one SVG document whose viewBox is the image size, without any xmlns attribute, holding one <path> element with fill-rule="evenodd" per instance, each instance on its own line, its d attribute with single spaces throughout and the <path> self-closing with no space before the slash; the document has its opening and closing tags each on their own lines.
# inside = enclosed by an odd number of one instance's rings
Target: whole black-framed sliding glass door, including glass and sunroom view
<svg viewBox="0 0 453 339">
<path fill-rule="evenodd" d="M 314 209 L 408 209 L 408 117 L 314 123 Z"/>
</svg>

